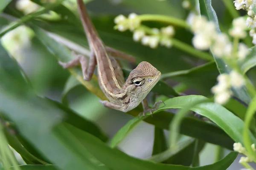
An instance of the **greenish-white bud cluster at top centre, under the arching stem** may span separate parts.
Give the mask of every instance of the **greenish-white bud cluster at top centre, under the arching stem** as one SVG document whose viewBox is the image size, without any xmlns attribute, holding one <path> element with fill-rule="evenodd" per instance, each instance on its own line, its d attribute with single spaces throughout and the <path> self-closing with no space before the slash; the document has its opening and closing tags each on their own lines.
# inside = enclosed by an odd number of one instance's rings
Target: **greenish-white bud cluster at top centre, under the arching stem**
<svg viewBox="0 0 256 170">
<path fill-rule="evenodd" d="M 124 15 L 119 15 L 115 18 L 115 29 L 121 32 L 130 30 L 133 32 L 133 39 L 136 42 L 141 41 L 145 46 L 156 48 L 159 44 L 170 48 L 172 46 L 171 38 L 175 34 L 173 26 L 163 27 L 161 29 L 148 28 L 141 25 L 141 20 L 137 14 L 131 13 L 128 18 Z"/>
</svg>

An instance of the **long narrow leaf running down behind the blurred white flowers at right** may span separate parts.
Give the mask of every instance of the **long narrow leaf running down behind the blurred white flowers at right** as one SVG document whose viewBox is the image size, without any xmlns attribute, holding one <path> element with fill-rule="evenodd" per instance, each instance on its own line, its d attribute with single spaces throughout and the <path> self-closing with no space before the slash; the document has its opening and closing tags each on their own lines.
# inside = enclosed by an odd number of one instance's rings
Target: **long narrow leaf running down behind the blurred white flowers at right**
<svg viewBox="0 0 256 170">
<path fill-rule="evenodd" d="M 217 31 L 220 32 L 219 25 L 218 25 L 218 18 L 217 15 L 212 8 L 212 1 L 211 0 L 199 0 L 200 3 L 200 12 L 201 15 L 205 15 L 208 20 L 211 20 L 215 23 L 217 26 Z M 213 55 L 213 54 L 212 54 Z M 221 58 L 217 58 L 215 55 L 213 55 L 218 71 L 222 73 L 229 73 L 231 71 L 231 67 L 227 65 L 227 63 L 224 63 L 224 61 Z M 241 101 L 244 101 L 245 103 L 249 104 L 250 103 L 250 96 L 243 86 L 240 89 L 232 89 L 233 94 L 239 98 Z"/>
</svg>

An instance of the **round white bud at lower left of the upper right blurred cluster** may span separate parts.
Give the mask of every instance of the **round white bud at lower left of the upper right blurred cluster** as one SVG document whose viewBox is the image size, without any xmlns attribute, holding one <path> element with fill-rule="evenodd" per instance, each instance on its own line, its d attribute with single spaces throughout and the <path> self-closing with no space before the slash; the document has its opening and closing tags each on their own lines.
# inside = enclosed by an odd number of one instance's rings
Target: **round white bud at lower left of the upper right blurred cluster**
<svg viewBox="0 0 256 170">
<path fill-rule="evenodd" d="M 197 34 L 192 38 L 192 43 L 197 49 L 207 50 L 211 45 L 211 39 L 203 34 Z"/>
</svg>

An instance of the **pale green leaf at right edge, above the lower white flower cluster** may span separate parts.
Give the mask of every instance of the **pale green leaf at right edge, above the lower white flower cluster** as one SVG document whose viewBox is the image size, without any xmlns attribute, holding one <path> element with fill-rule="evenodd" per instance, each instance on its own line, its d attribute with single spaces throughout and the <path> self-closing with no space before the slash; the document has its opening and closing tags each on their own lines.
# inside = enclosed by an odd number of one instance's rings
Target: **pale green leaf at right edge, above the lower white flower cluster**
<svg viewBox="0 0 256 170">
<path fill-rule="evenodd" d="M 241 72 L 245 74 L 248 70 L 256 66 L 256 47 L 253 46 L 250 50 L 249 55 L 241 62 Z"/>
</svg>

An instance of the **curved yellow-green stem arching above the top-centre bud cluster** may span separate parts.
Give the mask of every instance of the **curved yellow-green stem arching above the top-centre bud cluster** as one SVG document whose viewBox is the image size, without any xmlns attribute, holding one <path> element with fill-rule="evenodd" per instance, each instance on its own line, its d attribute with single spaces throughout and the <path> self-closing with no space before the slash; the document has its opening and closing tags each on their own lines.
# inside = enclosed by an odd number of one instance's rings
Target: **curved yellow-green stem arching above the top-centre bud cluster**
<svg viewBox="0 0 256 170">
<path fill-rule="evenodd" d="M 190 26 L 184 20 L 180 20 L 175 17 L 165 16 L 165 15 L 154 15 L 154 14 L 143 14 L 138 16 L 140 21 L 160 21 L 164 23 L 173 24 L 183 28 L 190 28 Z"/>
</svg>

